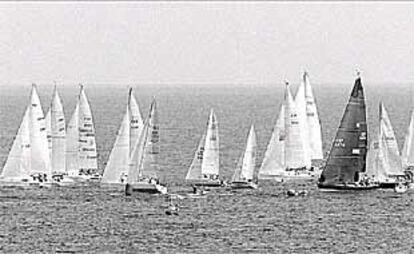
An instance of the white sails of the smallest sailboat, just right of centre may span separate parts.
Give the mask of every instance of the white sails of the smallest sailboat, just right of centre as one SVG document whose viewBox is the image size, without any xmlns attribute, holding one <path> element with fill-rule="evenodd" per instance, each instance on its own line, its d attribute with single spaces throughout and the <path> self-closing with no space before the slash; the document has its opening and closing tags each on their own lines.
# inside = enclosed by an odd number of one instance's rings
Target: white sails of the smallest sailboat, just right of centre
<svg viewBox="0 0 414 254">
<path fill-rule="evenodd" d="M 246 149 L 241 157 L 240 168 L 236 169 L 233 181 L 248 181 L 254 178 L 254 169 L 256 168 L 256 133 L 254 126 L 250 128 L 247 138 Z"/>
</svg>

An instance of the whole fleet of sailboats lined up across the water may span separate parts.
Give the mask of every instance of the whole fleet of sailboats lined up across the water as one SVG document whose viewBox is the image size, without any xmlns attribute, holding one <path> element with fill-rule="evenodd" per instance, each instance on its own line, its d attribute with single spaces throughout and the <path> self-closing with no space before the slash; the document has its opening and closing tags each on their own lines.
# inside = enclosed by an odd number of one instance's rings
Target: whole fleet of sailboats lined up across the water
<svg viewBox="0 0 414 254">
<path fill-rule="evenodd" d="M 348 104 L 318 180 L 321 190 L 394 188 L 403 192 L 414 167 L 414 112 L 400 154 L 388 112 L 379 104 L 379 127 L 368 147 L 366 106 L 361 78 L 355 80 Z M 103 171 L 98 172 L 95 127 L 83 86 L 66 126 L 62 100 L 55 86 L 50 108 L 43 114 L 36 85 L 9 156 L 0 186 L 49 186 L 99 181 L 122 186 L 126 195 L 166 194 L 158 173 L 159 121 L 155 98 L 143 121 L 132 88 L 125 112 Z M 305 72 L 293 97 L 286 82 L 284 99 L 259 172 L 257 139 L 252 125 L 244 152 L 236 165 L 231 188 L 257 188 L 258 179 L 307 179 L 319 174 L 313 161 L 322 160 L 321 124 L 316 101 Z M 219 175 L 218 121 L 211 109 L 205 133 L 185 176 L 194 187 L 225 186 Z"/>
</svg>

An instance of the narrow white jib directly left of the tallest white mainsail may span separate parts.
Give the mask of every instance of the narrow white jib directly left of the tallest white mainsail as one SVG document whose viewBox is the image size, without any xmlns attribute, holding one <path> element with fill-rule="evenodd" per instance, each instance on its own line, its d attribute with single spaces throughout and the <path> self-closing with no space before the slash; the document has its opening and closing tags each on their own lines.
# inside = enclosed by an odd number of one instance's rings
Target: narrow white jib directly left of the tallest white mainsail
<svg viewBox="0 0 414 254">
<path fill-rule="evenodd" d="M 306 113 L 305 83 L 301 82 L 295 95 L 296 112 L 299 118 L 300 141 L 303 147 L 303 157 L 305 161 L 311 161 L 310 133 Z"/>
</svg>

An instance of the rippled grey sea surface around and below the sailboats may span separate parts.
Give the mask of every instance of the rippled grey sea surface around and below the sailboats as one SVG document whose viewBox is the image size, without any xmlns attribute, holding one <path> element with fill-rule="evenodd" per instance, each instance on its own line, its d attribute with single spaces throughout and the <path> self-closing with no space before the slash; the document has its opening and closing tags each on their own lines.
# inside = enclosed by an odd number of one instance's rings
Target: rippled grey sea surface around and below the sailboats
<svg viewBox="0 0 414 254">
<path fill-rule="evenodd" d="M 314 84 L 327 152 L 352 89 Z M 292 92 L 297 85 L 292 86 Z M 161 180 L 186 196 L 184 176 L 210 108 L 220 132 L 223 178 L 230 178 L 249 127 L 258 136 L 258 166 L 283 99 L 283 85 L 137 85 L 145 117 L 155 96 L 161 133 Z M 124 114 L 126 85 L 86 85 L 94 115 L 99 169 L 103 170 Z M 43 109 L 52 85 L 39 85 Z M 66 121 L 76 103 L 76 85 L 59 86 Z M 410 84 L 365 86 L 369 136 L 378 128 L 383 101 L 400 148 L 414 109 Z M 0 169 L 29 102 L 30 85 L 0 85 Z M 308 190 L 287 197 L 288 189 Z M 167 216 L 163 196 L 126 197 L 99 186 L 0 189 L 0 253 L 411 253 L 414 252 L 414 191 L 321 193 L 315 182 L 265 181 L 254 191 L 210 192 L 177 199 L 179 215 Z"/>
</svg>

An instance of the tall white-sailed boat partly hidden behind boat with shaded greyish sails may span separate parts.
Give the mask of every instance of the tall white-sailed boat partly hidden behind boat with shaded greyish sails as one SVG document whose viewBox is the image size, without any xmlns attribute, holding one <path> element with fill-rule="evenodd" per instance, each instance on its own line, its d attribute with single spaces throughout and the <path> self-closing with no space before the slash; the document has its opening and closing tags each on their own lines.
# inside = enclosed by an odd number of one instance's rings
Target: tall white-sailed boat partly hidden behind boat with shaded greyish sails
<svg viewBox="0 0 414 254">
<path fill-rule="evenodd" d="M 143 126 L 138 103 L 130 88 L 125 114 L 101 179 L 102 184 L 126 184 L 133 145 L 137 142 Z"/>
</svg>

